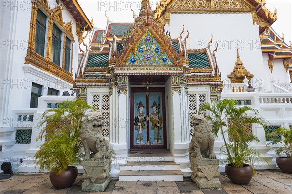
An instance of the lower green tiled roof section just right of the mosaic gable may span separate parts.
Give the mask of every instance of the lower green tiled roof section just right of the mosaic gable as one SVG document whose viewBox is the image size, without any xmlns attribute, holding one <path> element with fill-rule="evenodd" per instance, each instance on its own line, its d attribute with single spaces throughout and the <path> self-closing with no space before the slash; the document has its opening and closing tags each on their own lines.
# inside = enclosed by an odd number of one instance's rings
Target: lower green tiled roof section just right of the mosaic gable
<svg viewBox="0 0 292 194">
<path fill-rule="evenodd" d="M 207 53 L 188 53 L 190 68 L 210 67 Z"/>
</svg>

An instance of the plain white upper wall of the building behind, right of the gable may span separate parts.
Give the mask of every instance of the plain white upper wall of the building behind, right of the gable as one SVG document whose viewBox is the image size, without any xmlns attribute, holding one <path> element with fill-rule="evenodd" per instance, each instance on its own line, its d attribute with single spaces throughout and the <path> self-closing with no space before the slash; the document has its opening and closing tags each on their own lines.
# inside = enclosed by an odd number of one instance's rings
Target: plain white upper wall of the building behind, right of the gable
<svg viewBox="0 0 292 194">
<path fill-rule="evenodd" d="M 215 53 L 222 80 L 233 70 L 237 60 L 237 40 L 239 54 L 243 65 L 254 75 L 252 85 L 256 87 L 267 87 L 269 79 L 264 69 L 261 46 L 259 40 L 258 25 L 253 25 L 250 13 L 236 14 L 171 14 L 170 25 L 165 30 L 171 32 L 172 38 L 178 38 L 185 26 L 183 38 L 189 31 L 187 40 L 188 49 L 200 49 L 208 46 L 211 35 L 213 35 L 212 50 L 218 43 Z M 183 39 L 182 38 L 182 39 Z M 260 70 L 260 71 L 259 71 Z"/>
</svg>

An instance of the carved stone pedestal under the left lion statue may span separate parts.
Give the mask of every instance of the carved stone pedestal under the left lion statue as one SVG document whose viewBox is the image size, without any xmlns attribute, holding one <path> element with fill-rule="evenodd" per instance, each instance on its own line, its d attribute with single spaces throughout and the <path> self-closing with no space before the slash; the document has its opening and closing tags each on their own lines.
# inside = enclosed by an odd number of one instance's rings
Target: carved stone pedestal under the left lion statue
<svg viewBox="0 0 292 194">
<path fill-rule="evenodd" d="M 82 165 L 82 191 L 104 191 L 111 181 L 111 159 L 83 161 Z"/>
</svg>

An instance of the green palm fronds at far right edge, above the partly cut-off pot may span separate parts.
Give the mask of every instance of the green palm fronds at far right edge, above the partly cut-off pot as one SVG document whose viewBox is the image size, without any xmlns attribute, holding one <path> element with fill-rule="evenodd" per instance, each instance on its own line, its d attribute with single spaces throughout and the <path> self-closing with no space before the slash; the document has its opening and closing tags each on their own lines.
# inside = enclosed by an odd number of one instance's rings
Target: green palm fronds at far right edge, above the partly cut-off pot
<svg viewBox="0 0 292 194">
<path fill-rule="evenodd" d="M 279 135 L 283 138 L 279 138 Z M 285 154 L 287 158 L 292 159 L 292 126 L 289 129 L 280 127 L 275 129 L 274 132 L 267 134 L 271 142 L 268 144 L 277 145 L 273 148 L 278 156 Z"/>
</svg>

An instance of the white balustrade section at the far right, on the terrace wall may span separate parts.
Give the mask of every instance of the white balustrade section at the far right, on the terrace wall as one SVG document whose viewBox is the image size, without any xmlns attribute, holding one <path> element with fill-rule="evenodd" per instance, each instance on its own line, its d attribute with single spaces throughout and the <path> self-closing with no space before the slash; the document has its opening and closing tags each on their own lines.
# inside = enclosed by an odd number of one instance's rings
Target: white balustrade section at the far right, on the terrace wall
<svg viewBox="0 0 292 194">
<path fill-rule="evenodd" d="M 259 94 L 259 103 L 292 103 L 291 93 L 260 93 Z"/>
</svg>

